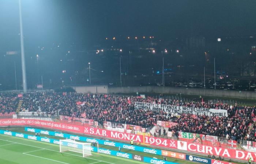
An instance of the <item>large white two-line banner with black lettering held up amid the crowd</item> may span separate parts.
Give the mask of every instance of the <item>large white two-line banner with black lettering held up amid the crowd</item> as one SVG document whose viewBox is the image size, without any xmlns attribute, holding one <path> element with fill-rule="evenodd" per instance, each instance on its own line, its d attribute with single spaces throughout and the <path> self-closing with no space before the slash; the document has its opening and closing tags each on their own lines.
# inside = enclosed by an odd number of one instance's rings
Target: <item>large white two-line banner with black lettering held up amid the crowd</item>
<svg viewBox="0 0 256 164">
<path fill-rule="evenodd" d="M 186 106 L 152 104 L 146 102 L 135 102 L 134 107 L 135 109 L 164 111 L 166 113 L 174 114 L 195 114 L 199 116 L 227 117 L 227 110 L 224 109 L 193 108 Z"/>
</svg>

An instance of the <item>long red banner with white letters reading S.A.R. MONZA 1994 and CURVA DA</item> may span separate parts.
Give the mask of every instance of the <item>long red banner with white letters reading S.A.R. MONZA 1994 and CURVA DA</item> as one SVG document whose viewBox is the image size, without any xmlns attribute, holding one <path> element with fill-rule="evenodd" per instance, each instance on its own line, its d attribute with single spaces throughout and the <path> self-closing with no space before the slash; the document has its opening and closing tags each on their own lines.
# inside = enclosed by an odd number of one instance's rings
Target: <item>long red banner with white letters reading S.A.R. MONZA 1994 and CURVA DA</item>
<svg viewBox="0 0 256 164">
<path fill-rule="evenodd" d="M 251 157 L 252 161 L 256 159 L 256 153 L 246 152 L 238 149 L 228 149 L 222 147 L 207 146 L 202 144 L 195 144 L 186 141 L 170 140 L 167 138 L 149 137 L 131 133 L 116 132 L 106 129 L 91 128 L 89 126 L 65 124 L 60 122 L 33 120 L 33 119 L 1 119 L 0 126 L 37 126 L 40 128 L 57 129 L 61 131 L 82 133 L 93 136 L 100 136 L 114 140 L 133 141 L 162 148 L 180 149 L 188 152 L 201 154 L 214 154 L 215 156 L 222 156 L 229 159 L 245 160 Z"/>
</svg>

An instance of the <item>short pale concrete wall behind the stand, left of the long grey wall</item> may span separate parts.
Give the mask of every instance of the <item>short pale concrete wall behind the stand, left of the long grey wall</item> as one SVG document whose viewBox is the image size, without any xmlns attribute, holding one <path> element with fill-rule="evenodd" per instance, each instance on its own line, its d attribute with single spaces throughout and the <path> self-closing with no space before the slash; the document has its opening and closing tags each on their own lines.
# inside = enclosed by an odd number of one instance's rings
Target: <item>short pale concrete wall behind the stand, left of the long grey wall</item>
<svg viewBox="0 0 256 164">
<path fill-rule="evenodd" d="M 77 93 L 108 93 L 108 86 L 72 86 Z"/>
</svg>

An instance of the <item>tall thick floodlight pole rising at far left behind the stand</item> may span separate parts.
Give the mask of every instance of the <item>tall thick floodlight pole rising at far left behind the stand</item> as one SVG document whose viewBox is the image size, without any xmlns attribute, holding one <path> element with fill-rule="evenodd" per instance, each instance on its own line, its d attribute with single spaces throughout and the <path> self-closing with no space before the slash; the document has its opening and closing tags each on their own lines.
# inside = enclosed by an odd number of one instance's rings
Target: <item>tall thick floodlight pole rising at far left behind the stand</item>
<svg viewBox="0 0 256 164">
<path fill-rule="evenodd" d="M 24 52 L 24 40 L 23 40 L 23 28 L 22 28 L 22 12 L 21 12 L 20 0 L 19 0 L 19 24 L 20 24 L 22 85 L 23 85 L 23 92 L 26 93 L 27 92 L 27 78 L 26 78 L 26 64 L 25 64 L 25 52 Z"/>
</svg>

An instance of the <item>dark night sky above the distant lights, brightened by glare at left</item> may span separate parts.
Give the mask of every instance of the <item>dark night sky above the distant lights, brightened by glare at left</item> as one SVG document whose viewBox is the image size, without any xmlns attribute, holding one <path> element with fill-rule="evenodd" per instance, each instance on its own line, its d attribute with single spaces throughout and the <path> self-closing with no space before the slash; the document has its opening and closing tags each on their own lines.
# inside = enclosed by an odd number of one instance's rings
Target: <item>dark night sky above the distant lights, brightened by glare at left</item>
<svg viewBox="0 0 256 164">
<path fill-rule="evenodd" d="M 105 37 L 255 35 L 255 0 L 22 0 L 25 49 Z M 0 0 L 0 52 L 19 50 L 18 0 Z"/>
</svg>

